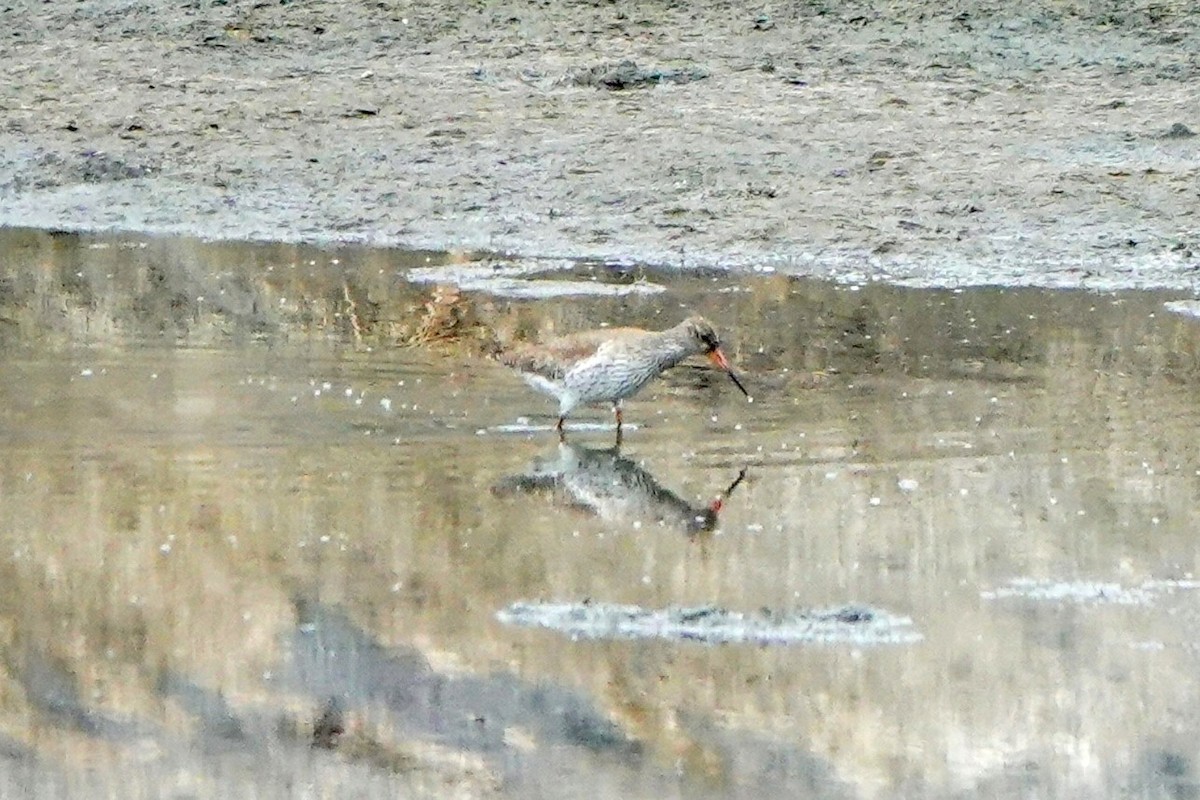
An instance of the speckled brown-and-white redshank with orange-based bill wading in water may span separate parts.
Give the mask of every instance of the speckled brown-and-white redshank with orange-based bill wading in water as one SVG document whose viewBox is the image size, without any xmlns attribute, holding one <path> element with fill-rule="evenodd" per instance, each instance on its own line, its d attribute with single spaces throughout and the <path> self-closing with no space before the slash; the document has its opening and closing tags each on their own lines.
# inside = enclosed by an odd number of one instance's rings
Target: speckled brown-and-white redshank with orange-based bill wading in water
<svg viewBox="0 0 1200 800">
<path fill-rule="evenodd" d="M 689 317 L 665 331 L 605 327 L 540 344 L 514 344 L 500 354 L 500 361 L 518 369 L 526 383 L 538 391 L 558 398 L 556 428 L 560 437 L 566 415 L 575 408 L 612 403 L 619 441 L 620 402 L 692 355 L 708 356 L 743 395 L 754 399 L 721 351 L 716 331 L 703 317 Z"/>
</svg>

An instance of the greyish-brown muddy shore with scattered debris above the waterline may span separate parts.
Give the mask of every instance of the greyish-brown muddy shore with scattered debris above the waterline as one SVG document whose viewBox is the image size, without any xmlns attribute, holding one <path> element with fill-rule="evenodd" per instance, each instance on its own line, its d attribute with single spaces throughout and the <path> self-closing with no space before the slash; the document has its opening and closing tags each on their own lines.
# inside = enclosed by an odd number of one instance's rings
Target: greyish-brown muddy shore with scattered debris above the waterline
<svg viewBox="0 0 1200 800">
<path fill-rule="evenodd" d="M 18 0 L 0 224 L 1190 288 L 1198 20 Z"/>
</svg>

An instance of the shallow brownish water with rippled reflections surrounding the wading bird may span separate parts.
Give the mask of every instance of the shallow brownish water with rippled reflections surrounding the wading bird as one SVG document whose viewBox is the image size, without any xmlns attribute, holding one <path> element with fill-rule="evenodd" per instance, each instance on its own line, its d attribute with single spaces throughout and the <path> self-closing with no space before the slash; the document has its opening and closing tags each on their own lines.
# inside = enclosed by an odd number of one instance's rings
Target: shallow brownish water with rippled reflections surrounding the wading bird
<svg viewBox="0 0 1200 800">
<path fill-rule="evenodd" d="M 0 795 L 1200 788 L 1180 295 L 470 271 L 504 330 L 716 321 L 754 404 L 679 368 L 617 452 L 391 345 L 472 261 L 0 237 Z M 727 626 L 830 609 L 912 634 Z"/>
</svg>

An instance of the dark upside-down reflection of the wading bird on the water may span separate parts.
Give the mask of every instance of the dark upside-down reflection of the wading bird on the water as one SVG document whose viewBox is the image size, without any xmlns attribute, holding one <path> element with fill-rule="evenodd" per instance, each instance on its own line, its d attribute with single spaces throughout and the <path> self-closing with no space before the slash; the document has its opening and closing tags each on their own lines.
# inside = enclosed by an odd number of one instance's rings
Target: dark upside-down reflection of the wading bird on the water
<svg viewBox="0 0 1200 800">
<path fill-rule="evenodd" d="M 654 522 L 695 534 L 716 528 L 718 515 L 745 474 L 743 468 L 712 503 L 694 506 L 622 457 L 618 447 L 600 450 L 564 441 L 559 443 L 556 458 L 535 461 L 529 471 L 503 479 L 492 492 L 499 495 L 545 492 L 601 519 Z"/>
</svg>

